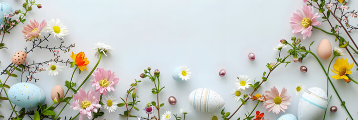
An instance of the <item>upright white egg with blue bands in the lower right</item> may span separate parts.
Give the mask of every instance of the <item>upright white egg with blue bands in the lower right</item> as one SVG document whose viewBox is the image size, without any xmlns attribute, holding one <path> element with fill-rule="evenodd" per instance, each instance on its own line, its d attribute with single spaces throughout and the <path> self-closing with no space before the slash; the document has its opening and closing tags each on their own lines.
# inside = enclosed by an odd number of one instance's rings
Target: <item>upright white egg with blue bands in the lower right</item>
<svg viewBox="0 0 358 120">
<path fill-rule="evenodd" d="M 318 87 L 308 88 L 298 102 L 298 120 L 322 119 L 327 103 L 327 95 L 323 89 Z"/>
</svg>

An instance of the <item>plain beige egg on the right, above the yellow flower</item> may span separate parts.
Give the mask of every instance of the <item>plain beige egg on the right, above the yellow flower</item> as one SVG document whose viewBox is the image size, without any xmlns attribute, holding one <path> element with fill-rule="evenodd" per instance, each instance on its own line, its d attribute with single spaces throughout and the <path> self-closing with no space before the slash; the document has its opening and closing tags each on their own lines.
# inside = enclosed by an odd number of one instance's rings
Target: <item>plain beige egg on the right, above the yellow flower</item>
<svg viewBox="0 0 358 120">
<path fill-rule="evenodd" d="M 329 58 L 332 54 L 332 45 L 327 39 L 322 39 L 317 47 L 318 56 L 322 59 Z"/>
</svg>

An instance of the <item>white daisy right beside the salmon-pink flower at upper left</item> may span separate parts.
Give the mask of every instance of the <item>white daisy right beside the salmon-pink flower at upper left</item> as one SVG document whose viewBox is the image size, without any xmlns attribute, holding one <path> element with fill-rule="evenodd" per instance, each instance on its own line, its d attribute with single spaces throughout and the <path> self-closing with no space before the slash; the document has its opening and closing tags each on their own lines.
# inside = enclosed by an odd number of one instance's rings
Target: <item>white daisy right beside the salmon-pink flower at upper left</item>
<svg viewBox="0 0 358 120">
<path fill-rule="evenodd" d="M 50 22 L 47 22 L 47 26 L 44 28 L 46 32 L 50 32 L 51 34 L 54 34 L 55 40 L 56 37 L 63 38 L 63 36 L 68 34 L 67 26 L 65 26 L 61 20 L 58 18 L 54 19 L 52 18 Z"/>
</svg>

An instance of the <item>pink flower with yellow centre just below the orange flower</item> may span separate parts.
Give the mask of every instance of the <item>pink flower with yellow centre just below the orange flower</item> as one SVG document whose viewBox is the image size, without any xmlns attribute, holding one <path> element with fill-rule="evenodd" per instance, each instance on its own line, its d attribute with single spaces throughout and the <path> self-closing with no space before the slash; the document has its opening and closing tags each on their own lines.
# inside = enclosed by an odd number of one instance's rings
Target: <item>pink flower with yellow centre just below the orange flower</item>
<svg viewBox="0 0 358 120">
<path fill-rule="evenodd" d="M 92 75 L 94 77 L 91 83 L 92 86 L 96 86 L 96 91 L 99 90 L 99 92 L 104 95 L 107 94 L 107 91 L 114 91 L 113 86 L 116 85 L 119 80 L 117 74 L 104 68 L 97 68 Z"/>
</svg>

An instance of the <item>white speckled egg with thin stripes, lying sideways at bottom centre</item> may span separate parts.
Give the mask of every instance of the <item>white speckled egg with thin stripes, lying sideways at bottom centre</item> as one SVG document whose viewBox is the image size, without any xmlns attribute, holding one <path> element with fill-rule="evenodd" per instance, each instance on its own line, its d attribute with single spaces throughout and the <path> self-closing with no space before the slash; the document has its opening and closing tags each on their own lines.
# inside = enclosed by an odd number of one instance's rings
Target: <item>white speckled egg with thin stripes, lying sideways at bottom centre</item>
<svg viewBox="0 0 358 120">
<path fill-rule="evenodd" d="M 214 112 L 224 106 L 224 98 L 208 88 L 197 88 L 189 95 L 189 102 L 201 112 Z"/>
</svg>

